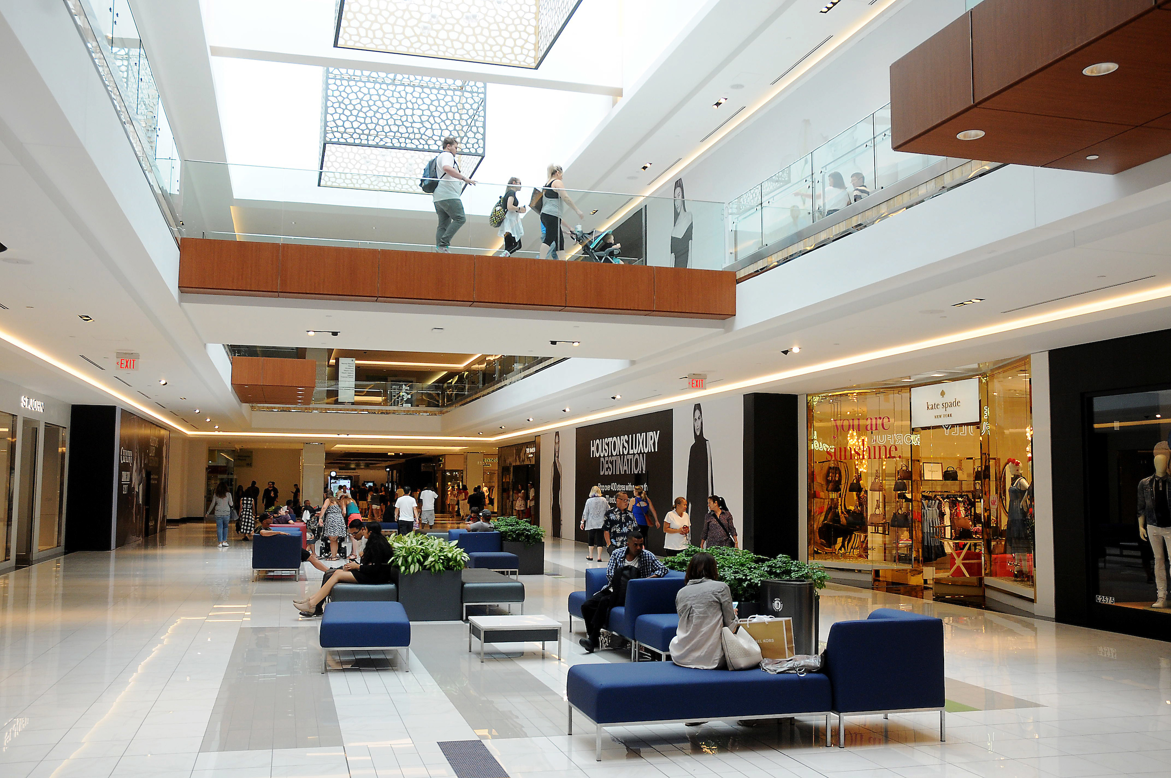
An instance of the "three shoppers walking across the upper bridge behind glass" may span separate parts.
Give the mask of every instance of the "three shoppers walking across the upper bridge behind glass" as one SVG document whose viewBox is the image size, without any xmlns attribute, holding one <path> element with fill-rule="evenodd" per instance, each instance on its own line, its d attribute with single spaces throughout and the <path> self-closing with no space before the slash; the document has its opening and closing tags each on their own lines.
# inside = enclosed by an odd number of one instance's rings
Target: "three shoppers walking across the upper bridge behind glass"
<svg viewBox="0 0 1171 778">
<path fill-rule="evenodd" d="M 464 202 L 460 197 L 465 186 L 475 186 L 475 180 L 468 178 L 459 170 L 459 138 L 447 136 L 443 139 L 443 151 L 436 157 L 436 182 L 434 191 L 431 193 L 432 204 L 436 209 L 438 224 L 436 225 L 436 251 L 443 253 L 451 252 L 451 240 L 459 232 L 459 228 L 467 223 L 467 214 L 464 211 Z M 528 212 L 529 206 L 541 214 L 541 257 L 560 259 L 557 252 L 564 248 L 566 239 L 561 227 L 561 218 L 567 209 L 577 213 L 577 218 L 584 218 L 586 213 L 577 207 L 566 185 L 562 182 L 564 171 L 561 165 L 550 164 L 547 169 L 547 180 L 545 186 L 534 192 L 529 205 L 522 205 L 520 200 L 521 180 L 513 176 L 508 179 L 505 193 L 500 197 L 499 204 L 504 209 L 504 220 L 497 230 L 497 234 L 505 240 L 504 253 L 512 255 L 520 251 L 521 238 L 525 236 L 525 227 L 521 217 Z"/>
</svg>

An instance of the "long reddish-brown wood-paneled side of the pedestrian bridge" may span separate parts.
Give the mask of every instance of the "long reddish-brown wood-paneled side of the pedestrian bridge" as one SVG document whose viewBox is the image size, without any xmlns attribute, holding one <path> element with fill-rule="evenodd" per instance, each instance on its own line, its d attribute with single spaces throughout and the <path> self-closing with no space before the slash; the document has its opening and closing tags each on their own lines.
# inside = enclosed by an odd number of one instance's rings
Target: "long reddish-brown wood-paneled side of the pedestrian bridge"
<svg viewBox="0 0 1171 778">
<path fill-rule="evenodd" d="M 735 315 L 731 271 L 207 238 L 183 239 L 179 291 L 685 319 Z"/>
</svg>

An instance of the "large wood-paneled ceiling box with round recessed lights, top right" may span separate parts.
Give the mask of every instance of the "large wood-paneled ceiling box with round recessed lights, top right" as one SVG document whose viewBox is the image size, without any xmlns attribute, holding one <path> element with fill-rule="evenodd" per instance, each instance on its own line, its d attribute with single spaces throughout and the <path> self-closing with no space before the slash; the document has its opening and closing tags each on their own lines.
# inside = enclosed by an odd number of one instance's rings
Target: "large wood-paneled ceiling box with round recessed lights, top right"
<svg viewBox="0 0 1171 778">
<path fill-rule="evenodd" d="M 1097 173 L 1157 159 L 1171 0 L 984 0 L 890 66 L 890 110 L 896 151 Z"/>
</svg>

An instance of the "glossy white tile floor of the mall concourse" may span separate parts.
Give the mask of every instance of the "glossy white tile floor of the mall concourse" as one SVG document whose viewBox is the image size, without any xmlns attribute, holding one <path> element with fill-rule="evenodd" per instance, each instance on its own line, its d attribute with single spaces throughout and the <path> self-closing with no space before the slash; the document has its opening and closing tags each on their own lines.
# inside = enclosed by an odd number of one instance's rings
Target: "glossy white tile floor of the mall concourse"
<svg viewBox="0 0 1171 778">
<path fill-rule="evenodd" d="M 556 569 L 580 575 L 580 547 L 547 547 Z M 0 576 L 0 778 L 454 778 L 437 743 L 475 737 L 511 778 L 1171 776 L 1171 644 L 847 587 L 823 593 L 823 636 L 877 606 L 932 613 L 945 621 L 949 678 L 971 684 L 954 688 L 1040 707 L 950 714 L 945 744 L 930 714 L 849 719 L 844 750 L 819 745 L 812 721 L 630 728 L 614 731 L 595 762 L 588 724 L 568 737 L 555 714 L 525 718 L 515 698 L 478 697 L 489 675 L 468 670 L 453 684 L 460 673 L 443 667 L 439 682 L 412 656 L 409 674 L 330 674 L 342 746 L 200 753 L 238 632 L 297 623 L 289 601 L 311 586 L 254 584 L 249 553 L 185 525 L 165 546 L 71 554 Z M 523 580 L 526 613 L 566 620 L 580 578 Z M 622 661 L 584 655 L 576 636 L 563 646 L 563 658 L 534 644 L 479 671 L 522 670 L 513 677 L 529 681 L 518 685 L 547 707 L 563 699 L 570 664 Z M 532 735 L 493 737 L 485 715 Z"/>
</svg>

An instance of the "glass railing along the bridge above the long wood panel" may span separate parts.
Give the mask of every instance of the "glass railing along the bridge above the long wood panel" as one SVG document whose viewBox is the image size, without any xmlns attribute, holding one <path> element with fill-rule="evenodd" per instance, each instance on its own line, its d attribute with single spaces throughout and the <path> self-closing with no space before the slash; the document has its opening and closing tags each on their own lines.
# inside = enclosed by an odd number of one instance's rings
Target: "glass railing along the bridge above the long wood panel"
<svg viewBox="0 0 1171 778">
<path fill-rule="evenodd" d="M 418 178 L 185 161 L 179 180 L 172 202 L 184 237 L 436 251 L 438 216 Z M 541 214 L 530 207 L 532 184 L 516 187 L 526 213 L 519 216 L 521 247 L 513 255 L 552 258 L 554 238 L 543 236 Z M 508 186 L 478 182 L 464 190 L 466 223 L 451 239 L 452 252 L 507 253 L 502 228 L 492 226 L 489 214 Z M 723 203 L 568 185 L 562 194 L 557 259 L 724 266 Z"/>
</svg>

